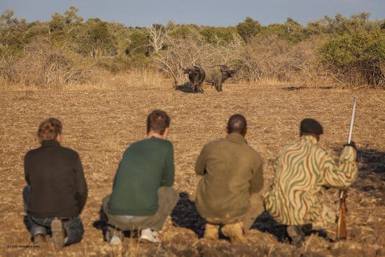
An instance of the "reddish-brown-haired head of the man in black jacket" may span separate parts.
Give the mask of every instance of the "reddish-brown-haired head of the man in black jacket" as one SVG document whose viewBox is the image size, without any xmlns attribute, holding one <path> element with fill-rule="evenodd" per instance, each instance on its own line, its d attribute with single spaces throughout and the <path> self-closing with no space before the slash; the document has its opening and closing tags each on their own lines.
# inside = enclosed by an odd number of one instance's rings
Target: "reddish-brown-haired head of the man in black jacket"
<svg viewBox="0 0 385 257">
<path fill-rule="evenodd" d="M 57 118 L 47 118 L 38 126 L 38 141 L 42 143 L 47 140 L 62 141 L 62 123 Z"/>
</svg>

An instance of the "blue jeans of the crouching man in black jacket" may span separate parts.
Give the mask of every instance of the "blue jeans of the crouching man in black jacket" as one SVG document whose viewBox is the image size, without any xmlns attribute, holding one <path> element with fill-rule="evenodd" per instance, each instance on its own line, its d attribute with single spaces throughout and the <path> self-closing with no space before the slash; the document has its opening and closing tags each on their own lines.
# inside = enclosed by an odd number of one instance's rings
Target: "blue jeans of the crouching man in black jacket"
<svg viewBox="0 0 385 257">
<path fill-rule="evenodd" d="M 24 209 L 27 215 L 24 217 L 24 223 L 32 237 L 37 234 L 51 234 L 51 222 L 54 218 L 36 218 L 28 214 L 27 203 L 29 201 L 30 186 L 22 190 Z M 60 217 L 58 217 L 60 219 Z M 75 244 L 81 241 L 84 234 L 83 223 L 79 216 L 62 220 L 66 238 L 64 245 Z"/>
</svg>

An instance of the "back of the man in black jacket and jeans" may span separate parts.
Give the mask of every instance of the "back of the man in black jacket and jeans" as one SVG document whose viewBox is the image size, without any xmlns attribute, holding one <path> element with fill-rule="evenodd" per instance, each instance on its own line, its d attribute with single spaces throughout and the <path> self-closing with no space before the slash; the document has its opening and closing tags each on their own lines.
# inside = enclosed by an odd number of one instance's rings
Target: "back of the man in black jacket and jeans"
<svg viewBox="0 0 385 257">
<path fill-rule="evenodd" d="M 76 151 L 55 140 L 43 141 L 25 155 L 25 174 L 31 185 L 29 214 L 37 218 L 80 214 L 87 187 Z M 83 195 L 80 205 L 76 194 Z"/>
</svg>

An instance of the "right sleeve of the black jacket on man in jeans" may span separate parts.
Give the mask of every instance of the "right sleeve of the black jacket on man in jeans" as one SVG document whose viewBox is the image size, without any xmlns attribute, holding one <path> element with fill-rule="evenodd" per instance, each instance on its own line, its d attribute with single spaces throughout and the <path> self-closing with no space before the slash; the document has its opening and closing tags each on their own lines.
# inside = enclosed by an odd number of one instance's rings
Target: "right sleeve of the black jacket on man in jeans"
<svg viewBox="0 0 385 257">
<path fill-rule="evenodd" d="M 75 167 L 74 167 L 74 173 L 75 173 L 75 198 L 78 202 L 78 209 L 79 214 L 81 211 L 83 211 L 85 202 L 87 201 L 87 183 L 85 181 L 83 167 L 80 162 L 79 155 L 76 154 L 76 161 L 75 161 Z"/>
</svg>

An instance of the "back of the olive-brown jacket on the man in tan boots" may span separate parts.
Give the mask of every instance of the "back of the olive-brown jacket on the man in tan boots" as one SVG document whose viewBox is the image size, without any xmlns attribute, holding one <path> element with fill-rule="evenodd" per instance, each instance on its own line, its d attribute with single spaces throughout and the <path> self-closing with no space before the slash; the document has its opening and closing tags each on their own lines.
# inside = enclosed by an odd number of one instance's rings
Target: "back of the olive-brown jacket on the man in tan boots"
<svg viewBox="0 0 385 257">
<path fill-rule="evenodd" d="M 197 188 L 197 209 L 219 219 L 246 213 L 253 193 L 251 185 L 262 188 L 263 184 L 261 174 L 258 179 L 255 176 L 262 166 L 260 154 L 237 132 L 212 141 L 204 146 L 202 153 L 206 166 Z"/>
</svg>

